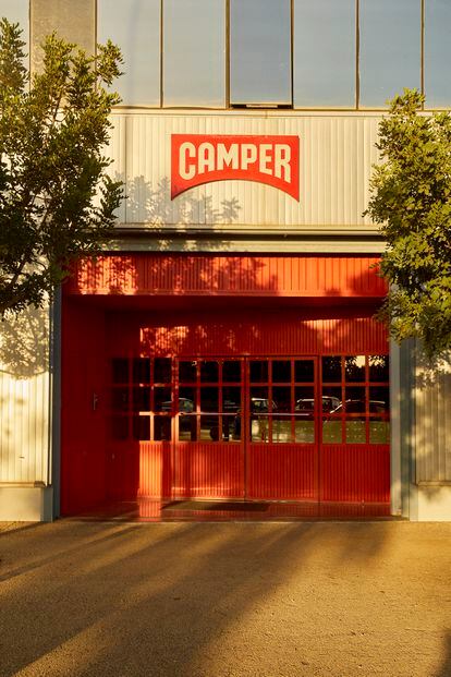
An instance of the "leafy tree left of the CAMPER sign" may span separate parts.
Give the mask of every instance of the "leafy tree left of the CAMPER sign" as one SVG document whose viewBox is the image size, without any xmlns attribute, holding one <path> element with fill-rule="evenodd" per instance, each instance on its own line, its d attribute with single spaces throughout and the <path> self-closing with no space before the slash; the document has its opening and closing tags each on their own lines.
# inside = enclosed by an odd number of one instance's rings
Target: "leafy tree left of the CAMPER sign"
<svg viewBox="0 0 451 677">
<path fill-rule="evenodd" d="M 52 34 L 31 78 L 21 35 L 0 21 L 0 317 L 41 306 L 71 262 L 99 251 L 122 191 L 102 153 L 119 48 L 90 57 Z"/>
</svg>

